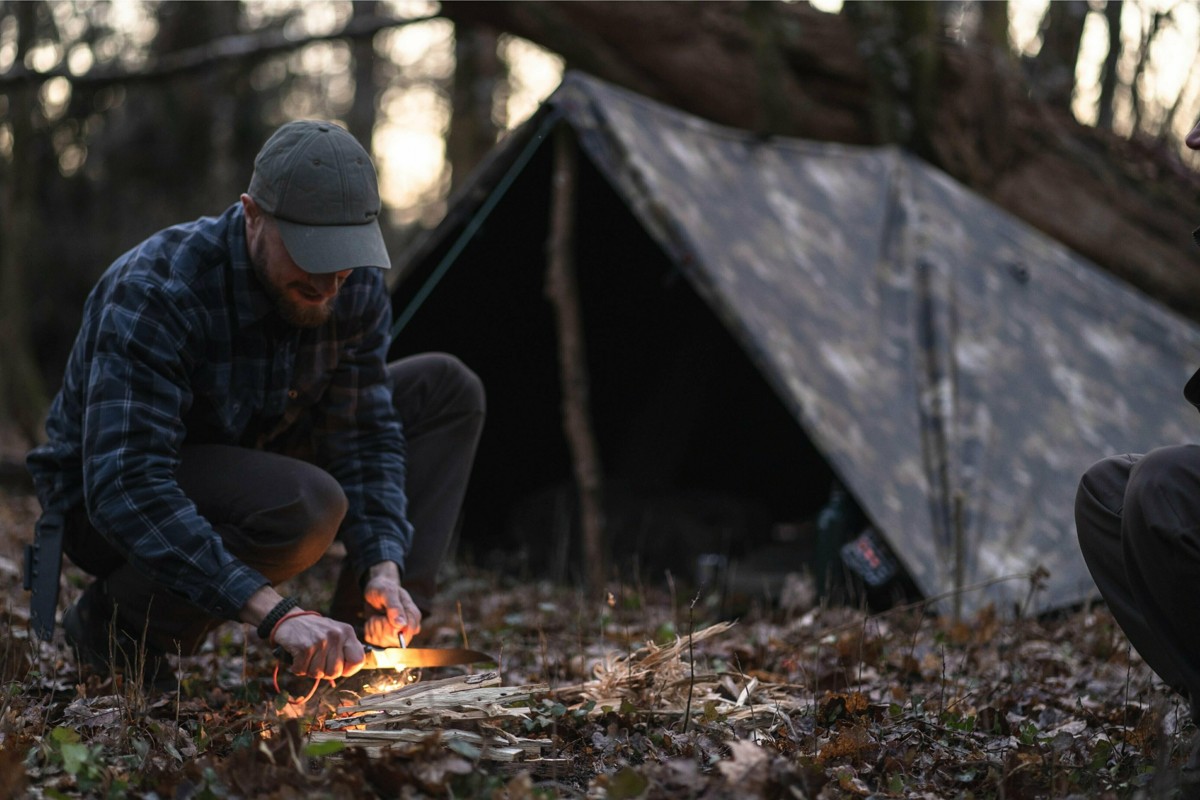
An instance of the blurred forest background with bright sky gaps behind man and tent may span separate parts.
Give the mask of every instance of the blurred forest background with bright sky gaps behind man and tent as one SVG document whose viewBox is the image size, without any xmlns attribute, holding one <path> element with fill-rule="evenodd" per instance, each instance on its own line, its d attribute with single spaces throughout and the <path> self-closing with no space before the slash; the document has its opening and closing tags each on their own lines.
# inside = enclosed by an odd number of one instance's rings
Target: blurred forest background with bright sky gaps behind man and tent
<svg viewBox="0 0 1200 800">
<path fill-rule="evenodd" d="M 763 136 L 898 143 L 1200 319 L 1198 42 L 1171 0 L 6 0 L 0 427 L 38 439 L 100 272 L 234 201 L 275 126 L 367 144 L 396 258 L 571 68 Z"/>
</svg>

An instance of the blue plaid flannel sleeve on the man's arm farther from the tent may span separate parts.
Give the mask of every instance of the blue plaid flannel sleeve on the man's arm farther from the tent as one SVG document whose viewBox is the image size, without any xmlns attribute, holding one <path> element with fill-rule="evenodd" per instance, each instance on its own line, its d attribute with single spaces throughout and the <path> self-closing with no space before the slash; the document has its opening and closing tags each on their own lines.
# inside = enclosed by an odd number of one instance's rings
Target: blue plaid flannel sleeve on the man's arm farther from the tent
<svg viewBox="0 0 1200 800">
<path fill-rule="evenodd" d="M 96 313 L 83 429 L 92 524 L 155 582 L 236 619 L 268 581 L 226 549 L 175 480 L 199 306 L 131 279 Z"/>
</svg>

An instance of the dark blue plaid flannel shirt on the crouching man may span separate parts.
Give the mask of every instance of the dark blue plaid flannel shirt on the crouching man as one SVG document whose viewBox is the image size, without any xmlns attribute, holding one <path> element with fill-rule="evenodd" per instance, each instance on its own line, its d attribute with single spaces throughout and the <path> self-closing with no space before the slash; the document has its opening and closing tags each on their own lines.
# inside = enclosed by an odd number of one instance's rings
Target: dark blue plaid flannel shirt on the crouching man
<svg viewBox="0 0 1200 800">
<path fill-rule="evenodd" d="M 138 570 L 224 619 L 268 582 L 175 482 L 184 445 L 258 447 L 326 469 L 349 500 L 340 534 L 360 572 L 384 560 L 403 570 L 412 541 L 382 271 L 354 270 L 324 325 L 293 327 L 253 273 L 244 218 L 235 203 L 168 228 L 104 272 L 48 441 L 28 458 L 44 510 L 85 505 Z"/>
</svg>

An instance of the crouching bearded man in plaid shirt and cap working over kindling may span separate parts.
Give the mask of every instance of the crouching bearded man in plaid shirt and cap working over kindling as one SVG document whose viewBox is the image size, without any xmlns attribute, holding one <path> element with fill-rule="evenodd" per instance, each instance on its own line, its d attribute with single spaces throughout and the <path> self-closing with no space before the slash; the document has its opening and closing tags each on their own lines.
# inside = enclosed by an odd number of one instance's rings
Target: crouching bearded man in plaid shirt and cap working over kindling
<svg viewBox="0 0 1200 800">
<path fill-rule="evenodd" d="M 226 620 L 284 648 L 293 672 L 334 679 L 361 668 L 364 634 L 420 631 L 484 391 L 448 355 L 388 363 L 379 211 L 354 137 L 289 122 L 238 201 L 103 273 L 28 458 L 43 638 L 62 552 L 95 576 L 64 615 L 68 644 L 108 672 L 140 666 L 144 638 L 152 686 Z M 281 594 L 335 539 L 347 559 L 331 608 Z"/>
</svg>

